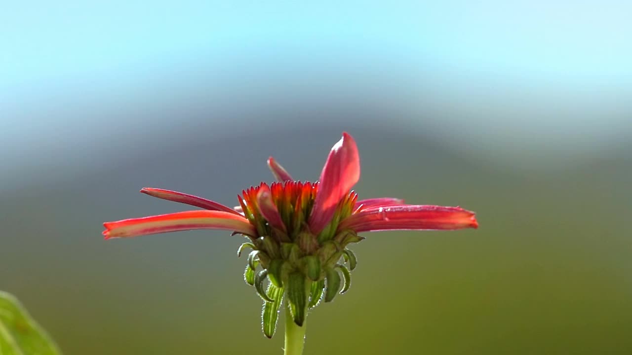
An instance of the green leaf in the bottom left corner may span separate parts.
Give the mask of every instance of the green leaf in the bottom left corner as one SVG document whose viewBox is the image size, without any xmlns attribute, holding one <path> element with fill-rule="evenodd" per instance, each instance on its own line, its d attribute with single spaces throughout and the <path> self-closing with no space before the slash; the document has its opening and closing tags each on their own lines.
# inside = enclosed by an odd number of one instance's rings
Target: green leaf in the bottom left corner
<svg viewBox="0 0 632 355">
<path fill-rule="evenodd" d="M 0 354 L 61 354 L 49 335 L 28 315 L 20 301 L 3 291 L 0 291 Z"/>
</svg>

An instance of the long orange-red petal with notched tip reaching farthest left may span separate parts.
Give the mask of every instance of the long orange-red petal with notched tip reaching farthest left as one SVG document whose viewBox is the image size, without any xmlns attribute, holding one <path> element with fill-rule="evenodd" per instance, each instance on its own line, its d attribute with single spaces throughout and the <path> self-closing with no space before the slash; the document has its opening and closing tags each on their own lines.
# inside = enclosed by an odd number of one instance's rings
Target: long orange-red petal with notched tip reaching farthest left
<svg viewBox="0 0 632 355">
<path fill-rule="evenodd" d="M 130 238 L 147 234 L 157 234 L 191 229 L 226 229 L 248 236 L 257 232 L 247 219 L 241 215 L 224 211 L 186 211 L 174 214 L 154 215 L 106 222 L 103 235 L 110 238 Z"/>
</svg>

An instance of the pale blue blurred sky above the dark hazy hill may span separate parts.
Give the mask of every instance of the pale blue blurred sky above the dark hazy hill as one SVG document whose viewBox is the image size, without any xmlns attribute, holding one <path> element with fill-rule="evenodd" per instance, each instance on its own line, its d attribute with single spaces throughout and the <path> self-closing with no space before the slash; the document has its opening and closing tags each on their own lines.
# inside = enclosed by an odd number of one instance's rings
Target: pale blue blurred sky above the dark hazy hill
<svg viewBox="0 0 632 355">
<path fill-rule="evenodd" d="M 295 93 L 343 100 L 370 92 L 408 112 L 389 119 L 489 152 L 510 145 L 563 156 L 631 131 L 629 1 L 61 0 L 1 8 L 4 158 L 23 145 L 75 147 L 51 131 L 98 150 L 90 133 L 106 127 L 168 127 L 175 117 L 142 114 L 157 103 L 265 104 Z M 177 119 L 194 120 L 186 111 Z"/>
</svg>

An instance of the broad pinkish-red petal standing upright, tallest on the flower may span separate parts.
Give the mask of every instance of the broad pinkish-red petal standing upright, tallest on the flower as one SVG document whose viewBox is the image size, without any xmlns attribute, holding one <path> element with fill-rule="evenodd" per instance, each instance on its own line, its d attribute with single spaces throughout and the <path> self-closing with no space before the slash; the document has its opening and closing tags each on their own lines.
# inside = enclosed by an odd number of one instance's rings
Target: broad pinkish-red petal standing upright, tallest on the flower
<svg viewBox="0 0 632 355">
<path fill-rule="evenodd" d="M 320 173 L 318 193 L 310 214 L 309 225 L 318 234 L 336 212 L 336 205 L 360 179 L 358 146 L 349 133 L 344 132 L 329 152 Z"/>
</svg>

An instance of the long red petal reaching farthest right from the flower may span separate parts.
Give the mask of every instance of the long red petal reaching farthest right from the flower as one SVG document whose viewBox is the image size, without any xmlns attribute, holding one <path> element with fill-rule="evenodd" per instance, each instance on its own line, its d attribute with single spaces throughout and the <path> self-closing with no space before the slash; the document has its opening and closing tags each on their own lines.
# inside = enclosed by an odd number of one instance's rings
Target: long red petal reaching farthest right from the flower
<svg viewBox="0 0 632 355">
<path fill-rule="evenodd" d="M 477 228 L 474 212 L 461 207 L 392 205 L 362 210 L 345 219 L 338 230 L 356 232 L 396 230 L 448 230 Z"/>
</svg>

